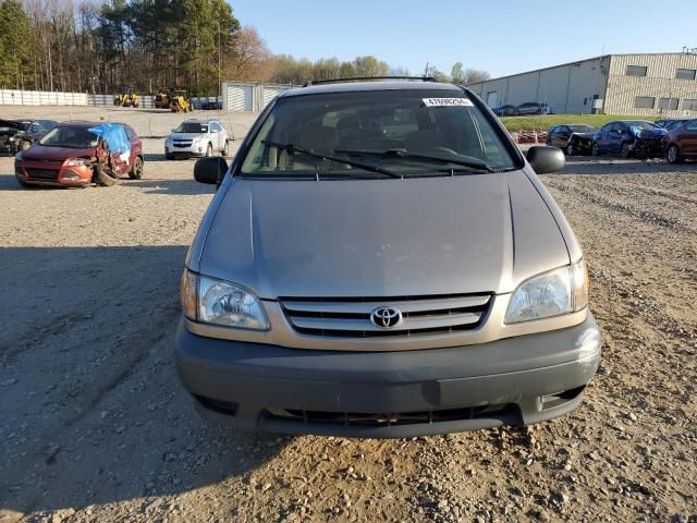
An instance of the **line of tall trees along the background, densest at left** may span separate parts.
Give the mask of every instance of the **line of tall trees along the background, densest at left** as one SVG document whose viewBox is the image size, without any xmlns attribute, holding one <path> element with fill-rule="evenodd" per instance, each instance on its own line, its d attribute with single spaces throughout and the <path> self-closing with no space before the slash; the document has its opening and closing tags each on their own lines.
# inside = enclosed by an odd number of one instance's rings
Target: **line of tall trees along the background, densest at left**
<svg viewBox="0 0 697 523">
<path fill-rule="evenodd" d="M 439 81 L 488 77 L 457 62 Z M 185 88 L 217 94 L 222 80 L 409 75 L 372 56 L 316 61 L 274 56 L 225 0 L 0 0 L 0 87 L 82 93 Z"/>
</svg>

